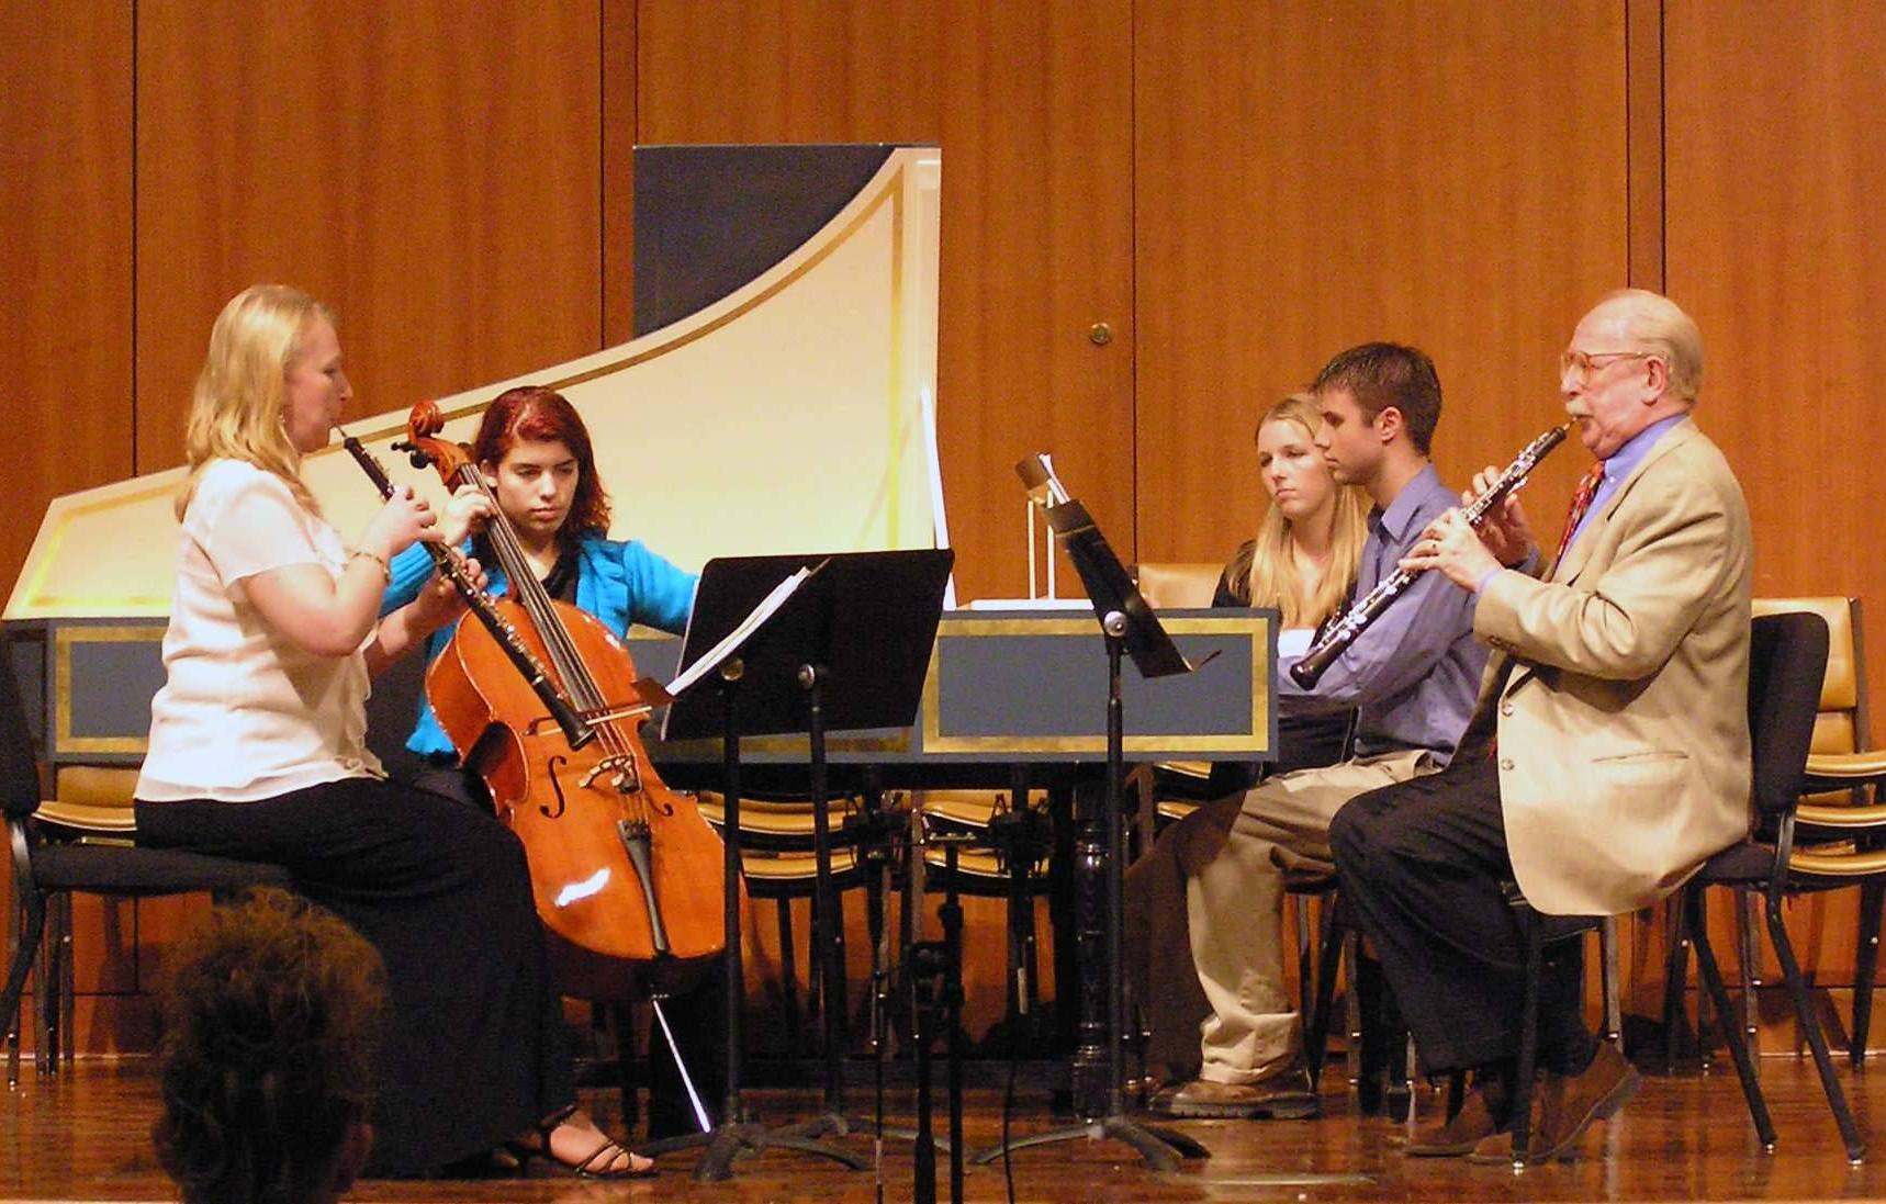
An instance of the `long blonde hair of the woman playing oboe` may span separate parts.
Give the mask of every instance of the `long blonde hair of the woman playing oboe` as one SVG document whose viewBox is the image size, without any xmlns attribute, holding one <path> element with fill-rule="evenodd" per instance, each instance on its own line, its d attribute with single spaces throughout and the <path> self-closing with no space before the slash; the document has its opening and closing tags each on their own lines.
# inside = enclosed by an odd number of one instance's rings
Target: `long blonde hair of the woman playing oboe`
<svg viewBox="0 0 1886 1204">
<path fill-rule="evenodd" d="M 315 318 L 334 324 L 326 305 L 289 285 L 251 285 L 217 315 L 183 426 L 190 477 L 177 494 L 177 518 L 190 509 L 211 460 L 245 460 L 273 473 L 311 514 L 321 513 L 302 482 L 302 452 L 289 439 L 281 411 L 289 364 Z"/>
</svg>

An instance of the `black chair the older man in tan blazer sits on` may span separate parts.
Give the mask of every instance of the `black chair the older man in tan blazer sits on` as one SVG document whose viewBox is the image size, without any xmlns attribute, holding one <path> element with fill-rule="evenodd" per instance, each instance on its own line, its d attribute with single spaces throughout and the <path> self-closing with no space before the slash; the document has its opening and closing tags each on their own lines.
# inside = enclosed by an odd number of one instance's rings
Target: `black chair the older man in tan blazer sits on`
<svg viewBox="0 0 1886 1204">
<path fill-rule="evenodd" d="M 1754 1059 L 1748 1044 L 1733 1019 L 1729 993 L 1722 982 L 1722 970 L 1709 946 L 1705 916 L 1705 895 L 1711 886 L 1729 886 L 1746 891 L 1762 891 L 1767 901 L 1769 936 L 1780 959 L 1788 991 L 1794 999 L 1795 1017 L 1807 1034 L 1814 1063 L 1820 1068 L 1820 1082 L 1828 1093 L 1841 1136 L 1846 1142 L 1848 1159 L 1858 1163 L 1865 1153 L 1860 1132 L 1854 1125 L 1846 1097 L 1839 1080 L 1833 1078 L 1833 1059 L 1828 1055 L 1828 1042 L 1814 1017 L 1807 982 L 1795 963 L 1794 946 L 1788 942 L 1788 929 L 1782 925 L 1780 903 L 1788 893 L 1814 889 L 1805 886 L 1790 869 L 1790 848 L 1794 844 L 1795 806 L 1805 780 L 1807 754 L 1814 731 L 1814 712 L 1820 699 L 1820 682 L 1828 665 L 1828 624 L 1818 614 L 1763 614 L 1750 626 L 1748 652 L 1748 735 L 1752 744 L 1752 782 L 1750 810 L 1754 816 L 1754 835 L 1733 844 L 1714 857 L 1684 884 L 1680 908 L 1686 942 L 1694 944 L 1697 967 L 1722 1031 L 1724 1042 L 1735 1059 L 1735 1072 L 1743 1083 L 1743 1097 L 1748 1102 L 1748 1115 L 1763 1146 L 1775 1147 L 1775 1123 L 1762 1098 L 1762 1085 L 1756 1080 Z M 1852 880 L 1841 882 L 1843 886 Z M 1513 1159 L 1524 1163 L 1530 1138 L 1530 1089 L 1533 1055 L 1537 1051 L 1537 967 L 1541 959 L 1541 938 L 1550 923 L 1563 918 L 1541 919 L 1531 908 L 1522 908 L 1522 921 L 1528 931 L 1528 965 L 1533 970 L 1528 982 L 1526 1012 L 1520 1029 L 1520 1066 L 1514 1098 Z M 1680 982 L 1684 967 L 1673 961 L 1675 980 Z"/>
</svg>

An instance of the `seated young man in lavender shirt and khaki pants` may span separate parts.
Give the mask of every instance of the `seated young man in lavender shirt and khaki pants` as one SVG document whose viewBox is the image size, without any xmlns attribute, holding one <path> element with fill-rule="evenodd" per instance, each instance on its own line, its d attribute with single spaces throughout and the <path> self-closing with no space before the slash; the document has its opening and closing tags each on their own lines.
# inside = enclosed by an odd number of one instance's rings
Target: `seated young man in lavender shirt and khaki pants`
<svg viewBox="0 0 1886 1204">
<path fill-rule="evenodd" d="M 1322 411 L 1316 447 L 1337 482 L 1362 486 L 1375 503 L 1356 578 L 1360 597 L 1456 503 L 1428 462 L 1441 381 L 1420 350 L 1367 343 L 1330 360 L 1311 390 Z M 1149 1061 L 1164 1063 L 1162 1078 L 1196 1074 L 1154 1097 L 1156 1110 L 1192 1117 L 1316 1114 L 1301 1019 L 1282 978 L 1284 886 L 1299 874 L 1330 872 L 1328 829 L 1343 803 L 1433 773 L 1452 756 L 1486 663 L 1473 639 L 1471 603 L 1447 580 L 1416 580 L 1313 690 L 1296 686 L 1284 673 L 1292 659 L 1282 659 L 1279 710 L 1354 707 L 1352 757 L 1279 774 L 1199 808 L 1128 874 L 1130 927 L 1175 931 L 1183 908 L 1198 982 L 1194 993 L 1179 974 L 1186 989 L 1162 991 L 1149 1016 Z M 1175 1046 L 1190 1051 L 1194 1040 L 1196 1061 L 1181 1061 L 1177 1051 L 1158 1057 Z"/>
</svg>

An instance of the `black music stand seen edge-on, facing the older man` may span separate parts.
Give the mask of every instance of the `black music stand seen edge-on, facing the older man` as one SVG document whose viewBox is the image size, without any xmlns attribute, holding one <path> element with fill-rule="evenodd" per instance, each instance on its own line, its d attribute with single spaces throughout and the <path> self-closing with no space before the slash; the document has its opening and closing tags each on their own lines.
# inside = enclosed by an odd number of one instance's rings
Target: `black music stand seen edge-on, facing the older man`
<svg viewBox="0 0 1886 1204">
<path fill-rule="evenodd" d="M 1126 774 L 1126 737 L 1120 707 L 1120 658 L 1122 654 L 1132 656 L 1133 667 L 1141 676 L 1190 673 L 1196 665 L 1188 663 L 1171 643 L 1171 637 L 1166 635 L 1160 620 L 1152 614 L 1147 599 L 1139 595 L 1133 578 L 1126 575 L 1126 565 L 1113 554 L 1113 548 L 1107 545 L 1105 535 L 1100 533 L 1100 526 L 1094 524 L 1086 507 L 1071 499 L 1060 480 L 1054 479 L 1054 469 L 1049 465 L 1047 456 L 1024 460 L 1015 467 L 1022 482 L 1030 486 L 1030 494 L 1045 505 L 1049 526 L 1054 528 L 1054 535 L 1067 548 L 1067 556 L 1081 575 L 1081 584 L 1094 603 L 1094 614 L 1100 618 L 1100 629 L 1107 643 L 1105 903 L 1100 904 L 1096 899 L 1100 891 L 1096 889 L 1098 884 L 1092 882 L 1090 870 L 1077 884 L 1083 916 L 1081 927 L 1086 929 L 1088 918 L 1098 908 L 1103 916 L 1107 946 L 1105 1025 L 1094 1023 L 1096 1017 L 1092 1016 L 1081 1016 L 1079 1031 L 1083 1038 L 1101 1031 L 1107 1049 L 1105 1057 L 1101 1057 L 1088 1040 L 1083 1040 L 1075 1051 L 1075 1114 L 1090 1119 L 1003 1142 L 975 1155 L 975 1161 L 990 1163 L 1005 1151 L 1047 1146 L 1051 1142 L 1113 1138 L 1137 1149 L 1139 1157 L 1154 1170 L 1177 1170 L 1179 1157 L 1205 1159 L 1211 1157 L 1211 1151 L 1183 1132 L 1130 1119 L 1126 1115 L 1126 1091 L 1122 1085 L 1126 1078 L 1120 1055 L 1120 1042 L 1126 1033 L 1126 974 L 1120 948 L 1120 912 L 1126 895 L 1126 823 L 1120 814 L 1120 780 Z M 1086 869 L 1084 859 L 1079 869 Z M 1083 993 L 1081 1002 L 1084 1012 L 1088 1008 L 1086 993 Z M 1094 1070 L 1103 1070 L 1107 1076 L 1103 1093 L 1094 1089 Z M 1103 1102 L 1096 1100 L 1096 1097 L 1101 1097 Z"/>
</svg>

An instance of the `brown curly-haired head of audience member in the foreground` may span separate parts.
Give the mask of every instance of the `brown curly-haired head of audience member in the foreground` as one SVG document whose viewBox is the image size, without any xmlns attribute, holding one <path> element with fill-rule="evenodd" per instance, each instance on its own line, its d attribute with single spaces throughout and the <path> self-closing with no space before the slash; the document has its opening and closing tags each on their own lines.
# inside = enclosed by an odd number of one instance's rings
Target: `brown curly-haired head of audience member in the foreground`
<svg viewBox="0 0 1886 1204">
<path fill-rule="evenodd" d="M 385 1012 L 379 953 L 279 889 L 215 908 L 158 995 L 158 1161 L 185 1204 L 334 1198 L 373 1100 Z"/>
</svg>

